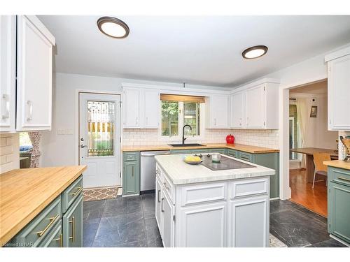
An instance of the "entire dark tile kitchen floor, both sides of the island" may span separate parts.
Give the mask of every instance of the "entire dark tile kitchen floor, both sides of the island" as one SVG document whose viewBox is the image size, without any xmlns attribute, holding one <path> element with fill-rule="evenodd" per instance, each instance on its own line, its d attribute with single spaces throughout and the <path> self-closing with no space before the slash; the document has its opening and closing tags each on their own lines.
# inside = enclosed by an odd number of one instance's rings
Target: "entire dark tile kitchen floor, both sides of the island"
<svg viewBox="0 0 350 262">
<path fill-rule="evenodd" d="M 327 219 L 290 201 L 270 202 L 270 233 L 288 247 L 344 247 Z M 84 247 L 162 247 L 155 194 L 84 202 Z"/>
</svg>

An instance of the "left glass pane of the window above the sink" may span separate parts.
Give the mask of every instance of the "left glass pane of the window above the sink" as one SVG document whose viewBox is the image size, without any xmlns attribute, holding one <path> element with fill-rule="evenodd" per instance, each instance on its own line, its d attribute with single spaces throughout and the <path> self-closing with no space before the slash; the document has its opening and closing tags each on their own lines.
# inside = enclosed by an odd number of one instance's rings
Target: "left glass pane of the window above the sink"
<svg viewBox="0 0 350 262">
<path fill-rule="evenodd" d="M 162 136 L 179 135 L 179 102 L 162 101 Z"/>
</svg>

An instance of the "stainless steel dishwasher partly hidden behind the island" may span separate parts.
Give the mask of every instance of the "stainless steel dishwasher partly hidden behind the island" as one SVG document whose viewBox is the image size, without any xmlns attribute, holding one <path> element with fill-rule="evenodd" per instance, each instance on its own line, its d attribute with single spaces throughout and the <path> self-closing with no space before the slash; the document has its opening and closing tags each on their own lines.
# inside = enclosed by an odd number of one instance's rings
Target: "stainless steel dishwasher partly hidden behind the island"
<svg viewBox="0 0 350 262">
<path fill-rule="evenodd" d="M 141 152 L 141 187 L 140 194 L 151 193 L 155 190 L 155 156 L 170 154 L 170 151 Z"/>
</svg>

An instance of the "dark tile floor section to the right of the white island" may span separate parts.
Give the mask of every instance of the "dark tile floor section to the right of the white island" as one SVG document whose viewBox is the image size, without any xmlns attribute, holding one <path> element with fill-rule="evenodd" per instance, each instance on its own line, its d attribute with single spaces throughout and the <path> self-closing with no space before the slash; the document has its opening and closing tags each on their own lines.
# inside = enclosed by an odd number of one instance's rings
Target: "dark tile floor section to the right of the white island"
<svg viewBox="0 0 350 262">
<path fill-rule="evenodd" d="M 290 201 L 270 201 L 269 232 L 288 247 L 345 247 L 330 238 L 327 219 Z"/>
</svg>

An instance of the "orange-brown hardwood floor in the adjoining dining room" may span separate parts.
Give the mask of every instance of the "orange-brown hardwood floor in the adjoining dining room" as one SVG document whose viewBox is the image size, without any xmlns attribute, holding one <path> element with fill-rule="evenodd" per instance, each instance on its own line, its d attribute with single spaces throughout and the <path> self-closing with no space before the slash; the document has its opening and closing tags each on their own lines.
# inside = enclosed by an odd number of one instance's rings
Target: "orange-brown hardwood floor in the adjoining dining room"
<svg viewBox="0 0 350 262">
<path fill-rule="evenodd" d="M 322 177 L 316 177 L 317 179 L 322 179 Z M 312 189 L 312 183 L 307 183 L 306 170 L 291 169 L 289 184 L 292 189 L 290 201 L 327 217 L 327 187 L 324 181 L 316 182 Z"/>
</svg>

